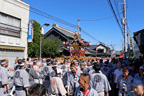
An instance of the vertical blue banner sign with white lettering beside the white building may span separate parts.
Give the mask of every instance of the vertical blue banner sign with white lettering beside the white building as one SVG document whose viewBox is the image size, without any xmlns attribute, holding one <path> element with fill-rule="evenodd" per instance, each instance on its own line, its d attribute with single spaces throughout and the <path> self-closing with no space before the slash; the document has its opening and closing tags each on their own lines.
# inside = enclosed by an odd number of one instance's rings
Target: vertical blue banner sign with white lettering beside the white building
<svg viewBox="0 0 144 96">
<path fill-rule="evenodd" d="M 33 42 L 34 21 L 29 21 L 28 42 Z"/>
</svg>

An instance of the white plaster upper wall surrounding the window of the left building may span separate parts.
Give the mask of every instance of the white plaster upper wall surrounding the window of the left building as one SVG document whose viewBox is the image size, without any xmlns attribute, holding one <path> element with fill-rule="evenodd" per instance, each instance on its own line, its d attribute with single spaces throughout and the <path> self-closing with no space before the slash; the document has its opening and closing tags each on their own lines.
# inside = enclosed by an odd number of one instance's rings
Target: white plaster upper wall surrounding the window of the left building
<svg viewBox="0 0 144 96">
<path fill-rule="evenodd" d="M 24 47 L 24 58 L 27 58 L 27 34 L 29 22 L 29 4 L 22 0 L 0 0 L 0 12 L 21 19 L 21 36 L 20 38 L 0 35 L 0 39 L 5 39 L 5 42 L 0 42 L 0 45 Z M 9 39 L 13 43 L 9 43 Z M 20 41 L 20 44 L 16 42 Z"/>
</svg>

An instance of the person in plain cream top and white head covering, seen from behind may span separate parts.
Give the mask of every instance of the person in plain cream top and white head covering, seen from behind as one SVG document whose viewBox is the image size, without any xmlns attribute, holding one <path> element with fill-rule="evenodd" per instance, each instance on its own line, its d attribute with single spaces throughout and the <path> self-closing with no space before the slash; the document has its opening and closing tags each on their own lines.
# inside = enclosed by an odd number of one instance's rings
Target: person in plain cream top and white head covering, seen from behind
<svg viewBox="0 0 144 96">
<path fill-rule="evenodd" d="M 51 79 L 52 94 L 56 96 L 66 96 L 66 90 L 61 79 L 62 70 L 57 68 L 57 77 Z"/>
</svg>

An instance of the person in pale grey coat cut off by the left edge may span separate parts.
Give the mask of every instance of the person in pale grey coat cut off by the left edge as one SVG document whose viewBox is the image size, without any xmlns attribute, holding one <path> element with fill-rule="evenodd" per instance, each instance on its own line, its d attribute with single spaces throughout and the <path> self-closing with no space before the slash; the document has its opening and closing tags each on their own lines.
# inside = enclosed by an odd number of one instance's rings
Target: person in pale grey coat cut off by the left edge
<svg viewBox="0 0 144 96">
<path fill-rule="evenodd" d="M 0 96 L 7 96 L 7 84 L 8 84 L 8 62 L 6 59 L 1 60 L 0 67 Z"/>
</svg>

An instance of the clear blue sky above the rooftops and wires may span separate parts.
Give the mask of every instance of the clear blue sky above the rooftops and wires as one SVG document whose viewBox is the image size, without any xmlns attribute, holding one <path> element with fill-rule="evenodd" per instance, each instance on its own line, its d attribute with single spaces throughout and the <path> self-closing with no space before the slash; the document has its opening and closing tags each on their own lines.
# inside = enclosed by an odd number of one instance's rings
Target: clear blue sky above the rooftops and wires
<svg viewBox="0 0 144 96">
<path fill-rule="evenodd" d="M 113 16 L 113 13 L 108 5 L 107 0 L 23 0 L 30 4 L 31 7 L 48 13 L 52 16 L 70 22 L 77 25 L 77 19 L 80 20 L 97 20 Z M 111 0 L 113 7 L 116 9 L 114 0 Z M 123 1 L 123 0 L 117 0 Z M 144 0 L 126 0 L 127 1 L 127 20 L 130 29 L 130 35 L 133 36 L 133 32 L 144 29 Z M 119 13 L 121 13 L 121 5 L 118 5 Z M 116 10 L 115 10 L 116 11 Z M 117 11 L 116 11 L 117 12 Z M 122 14 L 120 15 L 122 17 Z M 61 24 L 59 22 L 50 20 L 48 18 L 39 16 L 30 12 L 30 19 L 35 19 L 41 25 L 49 23 L 48 28 L 44 27 L 47 31 L 53 23 L 57 23 L 59 26 L 67 28 L 71 31 L 77 31 L 72 27 Z M 110 45 L 115 44 L 115 50 L 122 49 L 123 36 L 116 23 L 115 18 L 109 18 L 101 21 L 80 21 L 80 27 L 94 36 L 99 41 Z M 93 40 L 91 37 L 82 34 L 82 38 L 91 42 L 91 44 L 98 44 L 99 42 Z"/>
</svg>

